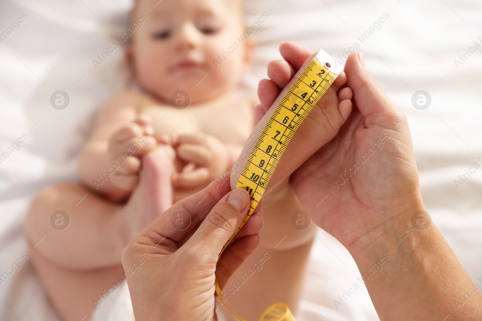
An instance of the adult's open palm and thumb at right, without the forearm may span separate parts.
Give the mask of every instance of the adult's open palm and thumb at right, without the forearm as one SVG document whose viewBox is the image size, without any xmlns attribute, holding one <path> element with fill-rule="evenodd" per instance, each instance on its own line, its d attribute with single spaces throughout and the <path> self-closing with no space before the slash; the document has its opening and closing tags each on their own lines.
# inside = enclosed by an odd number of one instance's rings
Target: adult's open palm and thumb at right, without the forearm
<svg viewBox="0 0 482 321">
<path fill-rule="evenodd" d="M 349 249 L 425 209 L 406 116 L 365 69 L 362 53 L 348 58 L 345 73 L 350 117 L 291 179 L 314 221 Z"/>
</svg>

